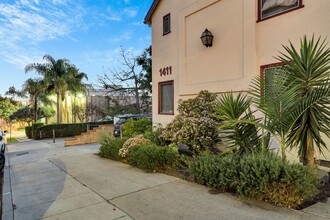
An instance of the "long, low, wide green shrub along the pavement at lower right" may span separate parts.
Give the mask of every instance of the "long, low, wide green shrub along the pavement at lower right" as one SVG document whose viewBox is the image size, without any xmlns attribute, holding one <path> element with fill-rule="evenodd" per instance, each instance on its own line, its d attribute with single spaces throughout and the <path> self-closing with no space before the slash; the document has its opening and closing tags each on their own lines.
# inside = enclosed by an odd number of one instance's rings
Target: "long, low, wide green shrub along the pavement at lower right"
<svg viewBox="0 0 330 220">
<path fill-rule="evenodd" d="M 284 162 L 273 153 L 225 157 L 203 153 L 189 170 L 201 184 L 286 207 L 313 197 L 320 183 L 315 170 Z"/>
</svg>

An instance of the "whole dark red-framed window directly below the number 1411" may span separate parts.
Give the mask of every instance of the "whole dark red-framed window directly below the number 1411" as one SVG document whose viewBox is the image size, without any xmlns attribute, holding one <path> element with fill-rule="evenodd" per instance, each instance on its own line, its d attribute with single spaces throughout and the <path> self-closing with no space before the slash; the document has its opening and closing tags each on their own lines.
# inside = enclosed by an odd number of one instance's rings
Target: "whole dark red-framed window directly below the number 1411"
<svg viewBox="0 0 330 220">
<path fill-rule="evenodd" d="M 160 82 L 158 84 L 158 113 L 174 114 L 174 86 L 172 81 Z"/>
</svg>

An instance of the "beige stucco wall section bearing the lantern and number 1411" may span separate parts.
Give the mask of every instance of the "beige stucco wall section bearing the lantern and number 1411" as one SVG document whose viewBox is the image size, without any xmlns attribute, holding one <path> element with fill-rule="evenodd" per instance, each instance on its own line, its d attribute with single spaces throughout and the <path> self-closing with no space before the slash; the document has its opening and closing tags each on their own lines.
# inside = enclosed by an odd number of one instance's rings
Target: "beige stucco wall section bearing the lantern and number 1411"
<svg viewBox="0 0 330 220">
<path fill-rule="evenodd" d="M 158 83 L 174 80 L 177 102 L 200 90 L 246 90 L 257 71 L 254 0 L 161 1 L 152 17 L 153 119 L 166 124 L 173 116 L 158 114 Z M 233 10 L 235 9 L 235 10 Z M 171 13 L 171 33 L 163 36 L 163 16 Z M 211 19 L 212 18 L 212 19 Z M 208 28 L 212 47 L 200 36 Z M 159 69 L 172 67 L 172 75 Z"/>
</svg>

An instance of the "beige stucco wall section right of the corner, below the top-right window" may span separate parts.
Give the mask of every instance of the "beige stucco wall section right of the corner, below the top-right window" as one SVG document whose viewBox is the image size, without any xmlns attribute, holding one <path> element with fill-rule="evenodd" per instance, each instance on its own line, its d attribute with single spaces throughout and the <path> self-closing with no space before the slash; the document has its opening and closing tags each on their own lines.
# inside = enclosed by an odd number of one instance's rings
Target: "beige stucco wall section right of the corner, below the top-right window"
<svg viewBox="0 0 330 220">
<path fill-rule="evenodd" d="M 289 40 L 299 48 L 299 41 L 311 37 L 330 36 L 330 1 L 303 0 L 304 7 L 268 20 L 256 23 L 257 55 L 259 65 L 278 62 L 274 56 L 283 51 Z"/>
</svg>

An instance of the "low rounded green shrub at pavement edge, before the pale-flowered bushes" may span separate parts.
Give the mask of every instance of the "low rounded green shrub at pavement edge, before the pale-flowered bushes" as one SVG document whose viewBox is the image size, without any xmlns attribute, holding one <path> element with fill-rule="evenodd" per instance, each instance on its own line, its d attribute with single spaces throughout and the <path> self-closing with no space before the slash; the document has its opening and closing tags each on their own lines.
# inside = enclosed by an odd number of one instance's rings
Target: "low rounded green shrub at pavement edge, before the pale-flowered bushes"
<svg viewBox="0 0 330 220">
<path fill-rule="evenodd" d="M 159 147 L 154 144 L 138 145 L 130 148 L 128 163 L 140 169 L 154 171 L 166 169 L 178 158 L 176 146 Z"/>
</svg>

